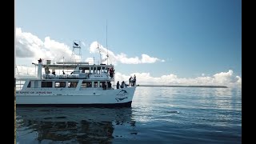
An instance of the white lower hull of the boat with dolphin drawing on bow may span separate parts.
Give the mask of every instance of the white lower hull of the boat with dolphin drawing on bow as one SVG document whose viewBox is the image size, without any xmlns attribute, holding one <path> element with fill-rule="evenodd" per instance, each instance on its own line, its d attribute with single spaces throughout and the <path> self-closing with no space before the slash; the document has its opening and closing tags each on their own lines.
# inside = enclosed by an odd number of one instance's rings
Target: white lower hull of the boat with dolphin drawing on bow
<svg viewBox="0 0 256 144">
<path fill-rule="evenodd" d="M 17 90 L 17 106 L 131 106 L 136 86 L 102 90 Z"/>
</svg>

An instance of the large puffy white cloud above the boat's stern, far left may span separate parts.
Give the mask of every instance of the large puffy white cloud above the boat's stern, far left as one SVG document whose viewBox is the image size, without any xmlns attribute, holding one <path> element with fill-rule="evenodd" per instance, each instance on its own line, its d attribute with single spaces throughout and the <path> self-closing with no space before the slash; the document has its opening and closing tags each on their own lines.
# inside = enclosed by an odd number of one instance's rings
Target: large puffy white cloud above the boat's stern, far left
<svg viewBox="0 0 256 144">
<path fill-rule="evenodd" d="M 38 58 L 63 61 L 63 57 L 71 59 L 72 50 L 66 44 L 56 42 L 50 37 L 46 37 L 43 42 L 37 36 L 16 28 L 16 57 L 33 58 L 33 62 L 37 62 Z M 74 59 L 79 60 L 78 55 L 75 55 Z"/>
</svg>

